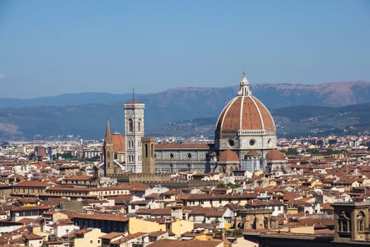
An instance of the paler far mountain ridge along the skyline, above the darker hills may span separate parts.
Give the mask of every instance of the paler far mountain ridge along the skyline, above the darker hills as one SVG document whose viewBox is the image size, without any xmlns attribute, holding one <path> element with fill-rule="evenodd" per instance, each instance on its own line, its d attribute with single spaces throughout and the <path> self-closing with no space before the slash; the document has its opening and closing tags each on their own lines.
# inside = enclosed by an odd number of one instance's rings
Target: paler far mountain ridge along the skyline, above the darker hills
<svg viewBox="0 0 370 247">
<path fill-rule="evenodd" d="M 370 102 L 370 82 L 362 80 L 320 85 L 252 83 L 250 88 L 252 94 L 261 102 L 267 107 L 274 108 L 297 105 L 340 107 Z M 226 88 L 174 88 L 163 92 L 135 95 L 135 99 L 156 107 L 186 104 L 189 107 L 194 105 L 219 109 L 234 97 L 238 90 L 239 85 Z M 50 107 L 126 102 L 131 99 L 130 93 L 82 92 L 30 99 L 0 98 L 0 107 Z"/>
</svg>

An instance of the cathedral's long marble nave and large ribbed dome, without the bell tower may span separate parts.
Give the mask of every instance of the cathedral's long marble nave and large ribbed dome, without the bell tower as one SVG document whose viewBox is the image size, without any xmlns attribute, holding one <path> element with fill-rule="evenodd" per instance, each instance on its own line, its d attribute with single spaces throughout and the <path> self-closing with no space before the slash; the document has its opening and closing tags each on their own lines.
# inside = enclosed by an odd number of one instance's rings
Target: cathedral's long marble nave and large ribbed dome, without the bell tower
<svg viewBox="0 0 370 247">
<path fill-rule="evenodd" d="M 222 171 L 230 171 L 235 169 L 235 156 L 239 157 L 238 167 L 253 163 L 251 172 L 266 169 L 266 155 L 276 149 L 276 127 L 269 110 L 249 90 L 245 75 L 243 71 L 238 95 L 218 116 L 214 144 L 156 144 L 155 171 L 211 172 L 220 167 Z M 230 160 L 222 158 L 223 164 L 218 164 L 223 152 L 235 152 L 235 155 L 226 155 Z"/>
</svg>

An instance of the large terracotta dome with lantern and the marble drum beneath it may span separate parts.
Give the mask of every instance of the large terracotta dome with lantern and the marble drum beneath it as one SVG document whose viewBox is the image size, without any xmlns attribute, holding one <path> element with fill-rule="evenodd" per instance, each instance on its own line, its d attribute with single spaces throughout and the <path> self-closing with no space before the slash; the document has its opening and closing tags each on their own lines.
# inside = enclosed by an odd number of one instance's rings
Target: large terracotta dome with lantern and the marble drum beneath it
<svg viewBox="0 0 370 247">
<path fill-rule="evenodd" d="M 235 150 L 239 157 L 248 157 L 251 150 L 266 157 L 276 148 L 276 128 L 269 110 L 249 90 L 243 71 L 238 95 L 230 100 L 218 116 L 214 135 L 218 150 Z"/>
</svg>

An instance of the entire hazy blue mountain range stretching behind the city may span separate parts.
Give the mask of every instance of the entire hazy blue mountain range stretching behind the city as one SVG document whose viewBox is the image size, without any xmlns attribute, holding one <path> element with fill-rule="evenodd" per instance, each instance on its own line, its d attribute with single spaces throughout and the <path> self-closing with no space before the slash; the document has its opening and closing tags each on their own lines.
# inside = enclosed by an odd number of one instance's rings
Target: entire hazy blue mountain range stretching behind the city
<svg viewBox="0 0 370 247">
<path fill-rule="evenodd" d="M 252 94 L 270 109 L 279 136 L 314 135 L 335 130 L 343 132 L 346 129 L 366 131 L 370 123 L 370 105 L 366 104 L 370 102 L 370 82 L 252 84 L 250 88 Z M 235 97 L 238 89 L 239 86 L 175 88 L 135 95 L 135 100 L 145 103 L 145 129 L 148 135 L 213 135 L 216 117 L 225 104 Z M 25 100 L 2 98 L 0 140 L 32 140 L 66 135 L 102 138 L 107 117 L 111 129 L 123 133 L 122 102 L 130 100 L 131 94 L 100 92 Z M 357 106 L 344 107 L 354 104 Z M 198 131 L 187 133 L 186 128 L 178 125 L 189 125 L 191 122 L 197 123 Z M 171 131 L 169 126 L 175 127 L 175 130 Z"/>
</svg>

